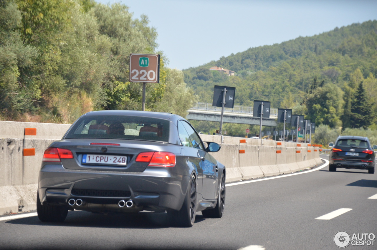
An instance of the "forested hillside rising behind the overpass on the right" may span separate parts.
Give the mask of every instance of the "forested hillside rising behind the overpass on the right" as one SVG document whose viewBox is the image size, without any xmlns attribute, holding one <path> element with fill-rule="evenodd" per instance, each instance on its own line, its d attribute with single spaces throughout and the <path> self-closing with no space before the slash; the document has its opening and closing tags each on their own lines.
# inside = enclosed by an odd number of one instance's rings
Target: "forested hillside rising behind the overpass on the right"
<svg viewBox="0 0 377 250">
<path fill-rule="evenodd" d="M 235 76 L 209 70 L 213 66 Z M 266 100 L 317 125 L 367 128 L 377 114 L 377 21 L 249 48 L 184 74 L 200 102 L 212 102 L 214 85 L 233 86 L 236 105 Z"/>
</svg>

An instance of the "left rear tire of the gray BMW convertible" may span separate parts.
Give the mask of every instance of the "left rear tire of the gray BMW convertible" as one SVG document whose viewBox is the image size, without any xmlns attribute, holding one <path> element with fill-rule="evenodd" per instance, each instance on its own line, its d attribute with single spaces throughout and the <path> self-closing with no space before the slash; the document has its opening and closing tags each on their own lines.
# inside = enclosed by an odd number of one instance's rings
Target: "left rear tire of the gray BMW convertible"
<svg viewBox="0 0 377 250">
<path fill-rule="evenodd" d="M 43 222 L 63 222 L 68 214 L 65 206 L 42 205 L 37 192 L 37 214 L 38 219 Z"/>
</svg>

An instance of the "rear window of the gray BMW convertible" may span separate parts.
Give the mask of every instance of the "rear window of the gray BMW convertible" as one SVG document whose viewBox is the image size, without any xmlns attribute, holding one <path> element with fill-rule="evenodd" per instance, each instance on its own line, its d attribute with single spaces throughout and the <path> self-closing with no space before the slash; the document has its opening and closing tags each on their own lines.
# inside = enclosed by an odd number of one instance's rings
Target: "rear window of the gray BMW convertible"
<svg viewBox="0 0 377 250">
<path fill-rule="evenodd" d="M 169 141 L 169 121 L 126 115 L 90 115 L 81 117 L 64 139 L 104 138 Z"/>
</svg>

